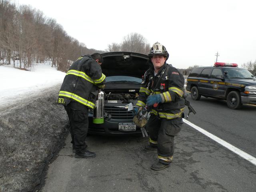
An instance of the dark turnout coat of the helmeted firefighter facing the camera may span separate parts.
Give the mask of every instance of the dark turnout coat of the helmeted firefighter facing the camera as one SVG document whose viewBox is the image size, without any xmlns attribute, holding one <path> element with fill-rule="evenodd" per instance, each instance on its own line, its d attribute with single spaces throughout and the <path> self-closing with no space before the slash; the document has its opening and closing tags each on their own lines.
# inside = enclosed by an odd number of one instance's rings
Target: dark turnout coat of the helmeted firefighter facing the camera
<svg viewBox="0 0 256 192">
<path fill-rule="evenodd" d="M 151 114 L 172 120 L 173 124 L 182 123 L 185 107 L 184 77 L 176 68 L 165 62 L 155 76 L 154 66 L 150 67 L 142 78 L 136 105 L 144 107 L 150 94 L 160 94 L 164 100 L 163 103 L 152 107 Z"/>
</svg>

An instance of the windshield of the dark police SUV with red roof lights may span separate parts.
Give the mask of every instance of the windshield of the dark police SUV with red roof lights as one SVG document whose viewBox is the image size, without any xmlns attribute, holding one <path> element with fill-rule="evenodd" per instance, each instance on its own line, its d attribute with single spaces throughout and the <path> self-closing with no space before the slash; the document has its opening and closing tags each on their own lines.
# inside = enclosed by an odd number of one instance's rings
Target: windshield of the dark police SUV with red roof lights
<svg viewBox="0 0 256 192">
<path fill-rule="evenodd" d="M 256 79 L 248 70 L 241 68 L 226 68 L 228 78 Z"/>
</svg>

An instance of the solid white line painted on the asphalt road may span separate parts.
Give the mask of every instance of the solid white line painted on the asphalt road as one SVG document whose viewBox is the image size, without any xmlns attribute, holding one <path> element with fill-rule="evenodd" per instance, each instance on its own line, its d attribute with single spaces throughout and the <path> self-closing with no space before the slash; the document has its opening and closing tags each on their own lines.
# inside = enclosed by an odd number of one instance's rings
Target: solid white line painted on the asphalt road
<svg viewBox="0 0 256 192">
<path fill-rule="evenodd" d="M 183 122 L 190 125 L 191 127 L 193 127 L 194 129 L 198 130 L 199 132 L 201 132 L 202 134 L 205 134 L 206 136 L 210 137 L 212 140 L 218 142 L 219 144 L 221 144 L 222 146 L 228 148 L 230 151 L 238 154 L 239 156 L 241 156 L 242 158 L 250 161 L 252 164 L 256 165 L 256 158 L 251 156 L 250 154 L 236 148 L 235 146 L 229 144 L 228 142 L 222 140 L 221 138 L 218 138 L 217 136 L 209 133 L 208 131 L 196 126 L 195 124 L 189 122 L 186 119 L 183 119 Z"/>
</svg>

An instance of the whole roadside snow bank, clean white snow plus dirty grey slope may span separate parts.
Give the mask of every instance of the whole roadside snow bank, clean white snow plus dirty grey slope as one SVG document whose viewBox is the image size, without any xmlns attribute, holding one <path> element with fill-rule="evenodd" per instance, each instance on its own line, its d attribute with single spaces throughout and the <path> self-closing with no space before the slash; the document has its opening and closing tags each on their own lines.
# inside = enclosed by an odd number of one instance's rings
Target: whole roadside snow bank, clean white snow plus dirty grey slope
<svg viewBox="0 0 256 192">
<path fill-rule="evenodd" d="M 31 71 L 0 65 L 0 191 L 37 191 L 64 145 L 68 117 L 57 105 L 66 75 L 49 63 Z"/>
</svg>

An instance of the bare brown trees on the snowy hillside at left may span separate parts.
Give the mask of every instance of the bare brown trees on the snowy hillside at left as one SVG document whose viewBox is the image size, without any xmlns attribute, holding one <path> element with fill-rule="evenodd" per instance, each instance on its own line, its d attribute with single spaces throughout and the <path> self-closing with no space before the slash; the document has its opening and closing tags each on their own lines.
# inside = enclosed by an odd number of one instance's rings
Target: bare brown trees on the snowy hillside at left
<svg viewBox="0 0 256 192">
<path fill-rule="evenodd" d="M 29 68 L 33 61 L 52 61 L 52 67 L 66 72 L 81 54 L 103 51 L 88 49 L 69 36 L 55 19 L 27 5 L 17 7 L 0 0 L 0 59 L 6 64 L 20 60 L 19 68 Z"/>
</svg>

